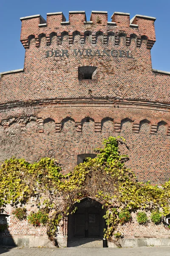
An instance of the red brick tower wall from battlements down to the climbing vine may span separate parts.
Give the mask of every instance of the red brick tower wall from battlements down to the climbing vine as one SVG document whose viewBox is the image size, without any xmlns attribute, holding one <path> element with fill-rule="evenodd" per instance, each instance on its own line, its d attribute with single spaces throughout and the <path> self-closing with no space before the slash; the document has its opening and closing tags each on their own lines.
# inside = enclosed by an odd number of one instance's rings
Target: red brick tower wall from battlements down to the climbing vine
<svg viewBox="0 0 170 256">
<path fill-rule="evenodd" d="M 47 15 L 43 27 L 41 17 L 22 20 L 24 72 L 0 79 L 1 161 L 55 157 L 69 172 L 77 154 L 93 153 L 103 138 L 118 134 L 139 180 L 169 179 L 170 76 L 152 70 L 154 20 L 136 17 L 134 28 L 129 15 L 114 14 L 116 25 L 107 19 L 92 13 L 93 23 L 85 24 L 85 13 L 70 13 L 62 25 L 62 14 Z M 70 55 L 46 58 L 48 50 L 62 49 Z M 76 56 L 74 49 L 129 51 L 133 58 Z M 97 67 L 96 79 L 79 81 L 78 67 L 89 65 Z"/>
</svg>

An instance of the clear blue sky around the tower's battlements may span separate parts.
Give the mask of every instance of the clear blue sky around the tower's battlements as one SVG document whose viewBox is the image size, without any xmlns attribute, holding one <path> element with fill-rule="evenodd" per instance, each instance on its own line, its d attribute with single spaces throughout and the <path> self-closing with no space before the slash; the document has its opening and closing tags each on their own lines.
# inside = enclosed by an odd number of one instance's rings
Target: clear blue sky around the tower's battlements
<svg viewBox="0 0 170 256">
<path fill-rule="evenodd" d="M 156 43 L 151 55 L 154 69 L 170 71 L 170 0 L 0 0 L 0 72 L 23 68 L 25 49 L 20 43 L 20 17 L 40 14 L 46 20 L 48 12 L 91 11 L 129 12 L 156 17 Z"/>
</svg>

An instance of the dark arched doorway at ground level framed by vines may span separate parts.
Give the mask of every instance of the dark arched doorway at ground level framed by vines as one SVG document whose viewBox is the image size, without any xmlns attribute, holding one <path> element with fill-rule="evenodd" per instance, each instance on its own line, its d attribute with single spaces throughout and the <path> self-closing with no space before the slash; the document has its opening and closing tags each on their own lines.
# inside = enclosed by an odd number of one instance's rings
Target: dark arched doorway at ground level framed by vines
<svg viewBox="0 0 170 256">
<path fill-rule="evenodd" d="M 105 209 L 102 205 L 91 198 L 83 198 L 76 203 L 77 211 L 68 215 L 68 247 L 76 244 L 76 241 L 84 244 L 93 240 L 101 240 L 105 228 Z"/>
</svg>

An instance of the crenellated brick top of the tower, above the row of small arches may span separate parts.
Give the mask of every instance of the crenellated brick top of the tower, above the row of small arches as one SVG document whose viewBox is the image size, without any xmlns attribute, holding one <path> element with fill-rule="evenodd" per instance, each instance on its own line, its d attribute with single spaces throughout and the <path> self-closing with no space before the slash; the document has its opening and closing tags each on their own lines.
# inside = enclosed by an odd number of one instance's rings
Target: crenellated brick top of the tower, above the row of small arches
<svg viewBox="0 0 170 256">
<path fill-rule="evenodd" d="M 49 37 L 51 32 L 61 35 L 66 31 L 73 33 L 79 31 L 83 34 L 85 31 L 101 30 L 104 35 L 107 35 L 108 31 L 119 33 L 124 31 L 127 37 L 131 34 L 135 34 L 138 38 L 146 36 L 149 41 L 156 41 L 154 21 L 155 17 L 135 15 L 130 20 L 130 14 L 124 12 L 114 12 L 112 21 L 108 21 L 108 12 L 92 11 L 90 21 L 86 20 L 85 11 L 71 11 L 69 12 L 69 20 L 66 21 L 62 12 L 47 13 L 47 19 L 45 20 L 41 15 L 32 15 L 22 17 L 21 37 L 20 40 L 27 41 L 28 37 L 33 35 L 38 38 L 40 34 L 44 34 Z M 91 28 L 90 28 L 91 27 Z"/>
</svg>

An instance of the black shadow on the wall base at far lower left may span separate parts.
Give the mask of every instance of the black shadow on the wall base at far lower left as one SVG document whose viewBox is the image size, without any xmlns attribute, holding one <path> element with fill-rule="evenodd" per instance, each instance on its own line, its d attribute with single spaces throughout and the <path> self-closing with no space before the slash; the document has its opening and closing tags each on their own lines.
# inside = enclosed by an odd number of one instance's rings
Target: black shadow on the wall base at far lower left
<svg viewBox="0 0 170 256">
<path fill-rule="evenodd" d="M 10 215 L 0 214 L 0 254 L 8 252 L 10 249 L 7 247 L 16 246 L 8 229 L 9 219 Z"/>
</svg>

